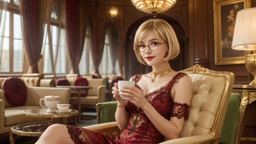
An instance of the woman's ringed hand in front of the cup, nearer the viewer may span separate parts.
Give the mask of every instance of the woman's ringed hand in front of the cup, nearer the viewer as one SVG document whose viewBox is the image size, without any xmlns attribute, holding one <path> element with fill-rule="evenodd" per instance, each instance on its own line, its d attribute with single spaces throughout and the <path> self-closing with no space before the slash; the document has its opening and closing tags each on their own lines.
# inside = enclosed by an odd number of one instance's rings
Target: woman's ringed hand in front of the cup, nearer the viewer
<svg viewBox="0 0 256 144">
<path fill-rule="evenodd" d="M 139 90 L 136 87 L 130 87 L 130 86 L 124 86 L 121 90 L 123 99 L 130 101 L 131 103 L 135 104 L 137 107 L 140 107 L 141 109 L 144 108 L 149 102 L 146 100 L 143 91 Z"/>
</svg>

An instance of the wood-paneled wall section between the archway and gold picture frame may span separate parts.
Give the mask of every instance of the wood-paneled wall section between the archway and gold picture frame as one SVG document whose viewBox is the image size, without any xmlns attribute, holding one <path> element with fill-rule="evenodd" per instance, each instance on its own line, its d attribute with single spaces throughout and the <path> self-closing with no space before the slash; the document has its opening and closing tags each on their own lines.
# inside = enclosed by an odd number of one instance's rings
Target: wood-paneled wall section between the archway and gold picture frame
<svg viewBox="0 0 256 144">
<path fill-rule="evenodd" d="M 255 6 L 256 0 L 251 0 L 251 7 Z M 235 84 L 248 84 L 253 80 L 253 75 L 248 72 L 245 64 L 215 65 L 213 25 L 213 0 L 189 0 L 190 64 L 233 72 Z"/>
</svg>

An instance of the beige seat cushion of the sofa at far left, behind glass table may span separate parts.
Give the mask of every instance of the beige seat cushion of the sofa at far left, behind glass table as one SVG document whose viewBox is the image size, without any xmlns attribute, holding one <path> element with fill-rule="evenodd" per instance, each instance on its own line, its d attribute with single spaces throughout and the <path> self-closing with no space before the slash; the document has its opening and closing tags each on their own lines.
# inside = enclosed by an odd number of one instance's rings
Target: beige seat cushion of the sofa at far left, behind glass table
<svg viewBox="0 0 256 144">
<path fill-rule="evenodd" d="M 5 108 L 5 126 L 46 120 L 45 118 L 29 117 L 23 114 L 24 110 L 36 108 L 41 108 L 41 106 L 16 106 Z"/>
</svg>

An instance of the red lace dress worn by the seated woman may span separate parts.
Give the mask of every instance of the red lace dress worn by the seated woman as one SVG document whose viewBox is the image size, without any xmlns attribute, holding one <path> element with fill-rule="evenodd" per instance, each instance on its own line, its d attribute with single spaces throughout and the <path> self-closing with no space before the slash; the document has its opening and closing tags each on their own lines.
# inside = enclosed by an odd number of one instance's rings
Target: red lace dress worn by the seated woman
<svg viewBox="0 0 256 144">
<path fill-rule="evenodd" d="M 140 90 L 142 89 L 137 82 L 141 75 L 137 74 L 133 77 L 135 86 Z M 165 86 L 145 95 L 155 110 L 168 120 L 171 117 L 177 117 L 178 119 L 184 118 L 186 121 L 189 117 L 189 106 L 173 102 L 171 96 L 174 84 L 184 75 L 186 74 L 176 74 Z M 165 137 L 154 127 L 142 109 L 129 101 L 125 102 L 125 109 L 129 113 L 128 126 L 117 137 L 109 138 L 88 129 L 66 125 L 68 133 L 75 144 L 158 144 L 164 141 Z"/>
</svg>

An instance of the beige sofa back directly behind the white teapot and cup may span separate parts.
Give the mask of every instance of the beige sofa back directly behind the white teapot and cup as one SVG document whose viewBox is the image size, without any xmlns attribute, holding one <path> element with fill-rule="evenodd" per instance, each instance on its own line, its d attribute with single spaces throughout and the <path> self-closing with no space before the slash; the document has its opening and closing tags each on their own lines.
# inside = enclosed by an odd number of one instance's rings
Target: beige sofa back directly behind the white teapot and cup
<svg viewBox="0 0 256 144">
<path fill-rule="evenodd" d="M 50 95 L 59 96 L 60 104 L 69 104 L 70 94 L 70 88 L 27 87 L 27 99 L 25 105 L 40 106 L 40 99 Z"/>
</svg>

